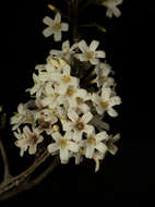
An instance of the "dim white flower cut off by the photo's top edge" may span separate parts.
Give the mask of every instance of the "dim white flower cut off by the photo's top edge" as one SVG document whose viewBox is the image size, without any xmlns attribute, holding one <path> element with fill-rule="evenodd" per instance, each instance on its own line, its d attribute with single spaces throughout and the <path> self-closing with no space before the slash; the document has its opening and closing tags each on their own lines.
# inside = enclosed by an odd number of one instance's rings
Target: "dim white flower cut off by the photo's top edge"
<svg viewBox="0 0 155 207">
<path fill-rule="evenodd" d="M 116 17 L 119 17 L 121 15 L 121 12 L 117 8 L 117 5 L 121 3 L 122 3 L 122 0 L 105 0 L 103 2 L 103 5 L 107 8 L 106 16 L 112 17 L 112 15 L 115 15 Z"/>
</svg>

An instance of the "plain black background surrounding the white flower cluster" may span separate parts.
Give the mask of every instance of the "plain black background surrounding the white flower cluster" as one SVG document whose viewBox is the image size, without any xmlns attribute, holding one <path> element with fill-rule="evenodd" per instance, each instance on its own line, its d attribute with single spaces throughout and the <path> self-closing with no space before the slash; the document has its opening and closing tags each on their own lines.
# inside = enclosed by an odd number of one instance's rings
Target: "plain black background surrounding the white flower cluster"
<svg viewBox="0 0 155 207">
<path fill-rule="evenodd" d="M 3 104 L 8 117 L 16 110 L 19 102 L 28 100 L 25 89 L 33 85 L 34 66 L 44 63 L 49 49 L 59 45 L 53 44 L 52 37 L 45 39 L 41 35 L 45 28 L 43 17 L 53 16 L 47 8 L 49 2 L 52 1 L 7 1 L 7 4 L 0 4 L 0 104 Z M 75 197 L 90 193 L 98 197 L 98 193 L 105 200 L 122 197 L 133 200 L 154 199 L 155 7 L 153 0 L 124 0 L 121 10 L 122 16 L 110 21 L 105 20 L 95 8 L 81 14 L 81 22 L 92 22 L 95 16 L 108 28 L 107 34 L 100 33 L 99 36 L 96 36 L 96 32 L 87 31 L 83 38 L 102 41 L 107 60 L 116 72 L 117 92 L 123 100 L 123 105 L 118 108 L 120 117 L 111 121 L 112 132 L 122 135 L 118 143 L 118 154 L 115 157 L 108 155 L 96 174 L 94 166 L 85 163 L 78 167 L 72 162 L 59 166 L 43 184 L 10 200 L 47 200 L 55 193 L 60 195 L 72 192 Z M 63 38 L 68 36 L 63 35 Z M 29 158 L 19 158 L 10 130 L 3 132 L 2 136 L 5 143 L 10 142 L 7 150 L 11 155 L 11 167 L 15 173 L 19 168 L 25 168 Z"/>
</svg>

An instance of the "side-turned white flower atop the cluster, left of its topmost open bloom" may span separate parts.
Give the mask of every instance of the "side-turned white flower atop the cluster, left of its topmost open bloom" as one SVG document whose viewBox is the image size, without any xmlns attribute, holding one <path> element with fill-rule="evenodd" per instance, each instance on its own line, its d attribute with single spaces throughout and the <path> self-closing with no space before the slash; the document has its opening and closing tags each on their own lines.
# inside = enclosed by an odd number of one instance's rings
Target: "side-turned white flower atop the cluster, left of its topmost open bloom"
<svg viewBox="0 0 155 207">
<path fill-rule="evenodd" d="M 51 57 L 63 58 L 64 60 L 70 61 L 75 48 L 78 48 L 78 44 L 70 47 L 70 41 L 65 40 L 62 44 L 62 50 L 50 50 L 50 54 Z"/>
</svg>

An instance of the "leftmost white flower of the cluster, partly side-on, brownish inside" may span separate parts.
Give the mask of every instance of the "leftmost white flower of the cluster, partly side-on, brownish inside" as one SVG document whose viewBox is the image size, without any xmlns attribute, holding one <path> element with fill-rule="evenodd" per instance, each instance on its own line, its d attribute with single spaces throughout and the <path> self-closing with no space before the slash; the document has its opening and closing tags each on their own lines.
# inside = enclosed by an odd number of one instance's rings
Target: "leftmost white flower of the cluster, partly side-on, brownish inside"
<svg viewBox="0 0 155 207">
<path fill-rule="evenodd" d="M 20 104 L 17 112 L 11 118 L 12 130 L 16 130 L 21 124 L 33 123 L 34 118 L 26 105 Z"/>
</svg>

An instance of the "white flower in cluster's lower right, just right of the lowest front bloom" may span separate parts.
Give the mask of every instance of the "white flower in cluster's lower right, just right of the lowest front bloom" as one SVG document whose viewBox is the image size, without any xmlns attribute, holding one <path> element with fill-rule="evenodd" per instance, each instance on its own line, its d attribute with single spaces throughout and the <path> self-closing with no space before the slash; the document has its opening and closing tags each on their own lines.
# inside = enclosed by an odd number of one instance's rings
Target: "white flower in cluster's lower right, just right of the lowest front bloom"
<svg viewBox="0 0 155 207">
<path fill-rule="evenodd" d="M 98 134 L 92 133 L 87 135 L 87 139 L 85 141 L 86 150 L 85 157 L 92 159 L 95 153 L 95 149 L 105 154 L 107 151 L 107 146 L 102 142 L 108 138 L 108 134 L 106 132 L 100 132 Z"/>
</svg>

